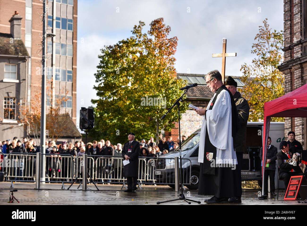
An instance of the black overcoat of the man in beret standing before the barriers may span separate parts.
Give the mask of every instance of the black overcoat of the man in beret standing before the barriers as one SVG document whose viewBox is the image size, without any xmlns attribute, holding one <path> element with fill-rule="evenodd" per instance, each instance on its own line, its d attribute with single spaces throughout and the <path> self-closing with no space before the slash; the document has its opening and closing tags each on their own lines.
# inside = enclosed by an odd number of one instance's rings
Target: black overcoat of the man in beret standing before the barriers
<svg viewBox="0 0 307 226">
<path fill-rule="evenodd" d="M 140 143 L 133 140 L 129 146 L 129 142 L 124 144 L 122 149 L 122 157 L 128 155 L 130 157 L 129 164 L 124 166 L 124 177 L 138 176 L 138 156 L 140 154 Z"/>
</svg>

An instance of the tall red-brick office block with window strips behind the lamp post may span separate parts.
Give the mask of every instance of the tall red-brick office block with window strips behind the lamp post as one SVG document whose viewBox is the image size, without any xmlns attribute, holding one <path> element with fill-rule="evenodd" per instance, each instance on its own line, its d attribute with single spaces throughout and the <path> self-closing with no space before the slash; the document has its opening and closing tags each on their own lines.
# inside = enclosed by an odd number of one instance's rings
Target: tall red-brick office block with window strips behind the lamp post
<svg viewBox="0 0 307 226">
<path fill-rule="evenodd" d="M 76 124 L 78 1 L 49 0 L 46 2 L 48 2 L 47 33 L 56 35 L 47 38 L 47 79 L 50 81 L 53 77 L 54 81 L 50 95 L 55 98 L 56 95 L 64 93 L 67 101 L 63 103 L 61 113 L 68 113 Z M 42 58 L 43 28 L 40 16 L 43 14 L 43 3 L 40 0 L 1 0 L 0 33 L 10 34 L 10 19 L 15 11 L 21 16 L 21 40 L 30 56 L 26 72 L 27 95 L 23 102 L 25 104 L 25 102 L 30 103 L 35 92 L 41 92 L 41 71 L 38 72 L 38 68 L 41 68 Z M 60 68 L 60 76 L 57 76 L 57 71 L 53 68 Z M 3 100 L 0 101 L 3 102 Z M 47 107 L 51 103 L 48 99 Z"/>
</svg>

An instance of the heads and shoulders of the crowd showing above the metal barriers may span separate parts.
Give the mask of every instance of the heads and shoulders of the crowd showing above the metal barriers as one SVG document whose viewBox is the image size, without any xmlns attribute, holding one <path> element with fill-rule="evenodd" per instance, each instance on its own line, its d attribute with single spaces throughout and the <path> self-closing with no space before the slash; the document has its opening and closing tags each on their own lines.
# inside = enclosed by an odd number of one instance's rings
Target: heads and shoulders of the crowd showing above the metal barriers
<svg viewBox="0 0 307 226">
<path fill-rule="evenodd" d="M 173 141 L 173 138 L 169 136 L 168 140 L 159 135 L 159 143 L 154 142 L 154 138 L 151 137 L 146 143 L 145 139 L 141 139 L 140 156 L 142 157 L 159 157 L 163 154 L 169 153 L 169 151 L 175 150 L 179 146 L 179 137 L 177 142 Z M 182 141 L 186 139 L 186 136 L 182 136 Z M 109 140 L 100 142 L 93 141 L 88 142 L 86 145 L 83 141 L 76 141 L 75 144 L 63 141 L 60 145 L 56 145 L 55 141 L 46 141 L 46 154 L 70 154 L 72 156 L 79 156 L 82 154 L 88 155 L 110 155 L 120 156 L 122 150 L 122 144 L 112 145 Z M 17 137 L 13 138 L 13 141 L 7 139 L 6 141 L 0 141 L 0 152 L 3 154 L 9 153 L 36 153 L 40 152 L 40 146 L 37 145 L 36 141 L 27 139 L 24 137 L 22 142 Z"/>
</svg>

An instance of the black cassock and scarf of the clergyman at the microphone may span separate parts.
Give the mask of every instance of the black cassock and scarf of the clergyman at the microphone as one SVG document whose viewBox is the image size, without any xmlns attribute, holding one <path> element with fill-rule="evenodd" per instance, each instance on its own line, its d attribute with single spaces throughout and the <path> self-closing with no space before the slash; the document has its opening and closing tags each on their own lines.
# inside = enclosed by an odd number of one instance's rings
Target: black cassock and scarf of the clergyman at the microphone
<svg viewBox="0 0 307 226">
<path fill-rule="evenodd" d="M 232 137 L 235 138 L 238 126 L 238 114 L 235 106 L 235 101 L 231 92 L 222 85 L 216 90 L 216 95 L 212 100 L 209 110 L 212 110 L 217 96 L 222 90 L 227 90 L 231 99 L 231 116 L 232 116 Z M 216 106 L 222 107 L 222 106 Z M 235 143 L 235 141 L 233 142 Z M 206 159 L 206 152 L 212 152 L 213 158 L 216 159 L 216 147 L 209 140 L 208 128 L 206 127 L 205 148 L 204 148 L 204 163 L 200 163 L 200 175 L 198 194 L 199 195 L 215 195 L 217 198 L 234 197 L 236 174 L 231 167 L 211 167 L 211 162 Z"/>
</svg>

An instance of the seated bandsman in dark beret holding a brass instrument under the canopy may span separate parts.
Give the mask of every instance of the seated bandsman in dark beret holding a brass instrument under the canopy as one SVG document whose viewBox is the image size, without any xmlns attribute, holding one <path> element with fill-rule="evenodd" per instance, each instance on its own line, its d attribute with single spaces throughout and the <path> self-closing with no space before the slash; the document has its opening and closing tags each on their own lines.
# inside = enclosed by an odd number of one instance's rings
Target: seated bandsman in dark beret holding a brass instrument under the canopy
<svg viewBox="0 0 307 226">
<path fill-rule="evenodd" d="M 280 142 L 279 149 L 281 149 L 281 151 L 277 153 L 277 161 L 280 168 L 279 179 L 284 180 L 285 186 L 287 188 L 289 185 L 290 177 L 301 176 L 303 175 L 303 172 L 298 163 L 296 166 L 290 165 L 288 163 L 288 160 L 293 158 L 296 153 L 289 153 L 289 144 L 287 144 L 286 141 Z"/>
</svg>

